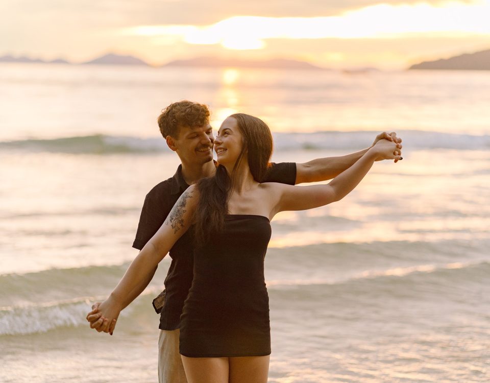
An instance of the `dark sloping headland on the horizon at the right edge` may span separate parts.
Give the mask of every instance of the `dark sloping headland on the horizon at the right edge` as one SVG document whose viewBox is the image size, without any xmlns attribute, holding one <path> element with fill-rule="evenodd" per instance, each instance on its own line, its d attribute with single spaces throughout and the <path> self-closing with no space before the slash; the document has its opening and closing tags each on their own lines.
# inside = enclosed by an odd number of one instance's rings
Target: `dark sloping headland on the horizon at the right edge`
<svg viewBox="0 0 490 383">
<path fill-rule="evenodd" d="M 409 69 L 490 70 L 490 49 L 449 59 L 425 61 Z"/>
</svg>

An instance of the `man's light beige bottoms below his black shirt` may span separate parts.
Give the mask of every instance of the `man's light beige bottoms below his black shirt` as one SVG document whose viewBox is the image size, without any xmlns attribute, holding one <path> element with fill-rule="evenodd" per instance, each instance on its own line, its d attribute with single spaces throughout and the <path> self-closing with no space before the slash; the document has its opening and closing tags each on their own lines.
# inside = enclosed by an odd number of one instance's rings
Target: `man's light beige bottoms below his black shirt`
<svg viewBox="0 0 490 383">
<path fill-rule="evenodd" d="M 179 352 L 180 330 L 160 330 L 158 338 L 159 383 L 187 383 Z"/>
</svg>

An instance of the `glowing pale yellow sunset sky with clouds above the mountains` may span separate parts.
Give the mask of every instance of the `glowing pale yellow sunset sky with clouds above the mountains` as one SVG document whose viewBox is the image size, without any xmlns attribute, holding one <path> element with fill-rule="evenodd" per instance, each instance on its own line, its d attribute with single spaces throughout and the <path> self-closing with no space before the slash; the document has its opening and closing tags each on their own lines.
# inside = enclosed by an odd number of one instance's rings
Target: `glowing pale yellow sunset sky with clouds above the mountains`
<svg viewBox="0 0 490 383">
<path fill-rule="evenodd" d="M 197 56 L 405 68 L 490 49 L 490 0 L 3 0 L 0 55 Z"/>
</svg>

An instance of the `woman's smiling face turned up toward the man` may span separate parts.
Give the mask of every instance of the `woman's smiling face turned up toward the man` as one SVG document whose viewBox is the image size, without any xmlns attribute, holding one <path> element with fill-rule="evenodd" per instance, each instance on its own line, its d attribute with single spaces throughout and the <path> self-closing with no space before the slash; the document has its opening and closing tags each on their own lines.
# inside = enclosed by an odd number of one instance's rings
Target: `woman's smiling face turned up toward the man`
<svg viewBox="0 0 490 383">
<path fill-rule="evenodd" d="M 233 117 L 227 117 L 221 124 L 214 140 L 214 151 L 222 165 L 233 166 L 243 147 L 243 135 Z"/>
</svg>

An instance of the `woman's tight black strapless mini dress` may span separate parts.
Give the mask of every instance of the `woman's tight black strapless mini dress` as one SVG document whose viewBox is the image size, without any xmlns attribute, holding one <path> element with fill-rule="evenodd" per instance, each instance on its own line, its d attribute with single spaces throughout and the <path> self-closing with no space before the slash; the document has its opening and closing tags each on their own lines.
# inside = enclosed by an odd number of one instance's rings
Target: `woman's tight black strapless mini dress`
<svg viewBox="0 0 490 383">
<path fill-rule="evenodd" d="M 180 353 L 188 357 L 271 353 L 264 257 L 267 217 L 228 214 L 223 232 L 194 252 L 194 277 L 184 303 Z"/>
</svg>

